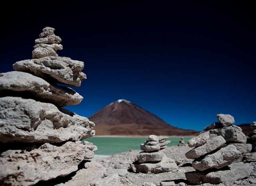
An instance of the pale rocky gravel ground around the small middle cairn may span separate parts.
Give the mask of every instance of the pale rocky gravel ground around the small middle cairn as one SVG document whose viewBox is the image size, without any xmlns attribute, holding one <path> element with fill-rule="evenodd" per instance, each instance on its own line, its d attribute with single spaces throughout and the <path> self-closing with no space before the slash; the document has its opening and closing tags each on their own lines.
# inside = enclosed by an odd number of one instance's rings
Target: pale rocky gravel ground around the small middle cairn
<svg viewBox="0 0 256 186">
<path fill-rule="evenodd" d="M 192 167 L 193 159 L 188 159 L 185 157 L 186 152 L 191 150 L 192 148 L 186 145 L 180 146 L 170 146 L 165 149 L 162 149 L 167 157 L 175 159 L 176 162 L 180 161 L 180 165 L 175 172 L 163 172 L 158 174 L 145 174 L 145 173 L 134 173 L 130 170 L 130 163 L 134 161 L 136 155 L 141 152 L 141 150 L 130 150 L 127 152 L 118 153 L 112 155 L 107 158 L 96 160 L 96 162 L 100 163 L 105 169 L 106 172 L 104 173 L 104 178 L 99 179 L 98 183 L 94 185 L 100 185 L 105 181 L 106 185 L 115 185 L 114 180 L 119 181 L 119 185 L 123 186 L 185 186 L 185 185 L 192 185 L 189 183 L 185 177 L 186 172 L 194 171 L 195 169 Z M 240 162 L 242 163 L 242 162 Z M 233 163 L 235 164 L 235 163 Z M 219 184 L 198 184 L 198 186 L 211 186 L 211 185 L 218 185 L 218 186 L 236 186 L 236 185 L 250 185 L 256 186 L 256 162 L 245 163 L 252 166 L 252 173 L 250 176 L 242 179 L 233 181 L 222 182 Z M 118 177 L 115 178 L 115 173 L 118 174 Z M 240 174 L 239 170 L 237 174 Z M 112 177 L 110 176 L 112 175 Z M 104 176 L 103 176 L 104 177 Z M 108 178 L 108 179 L 106 179 Z M 119 179 L 122 178 L 122 179 Z M 111 180 L 113 181 L 111 183 Z M 154 184 L 154 185 L 153 185 Z"/>
</svg>

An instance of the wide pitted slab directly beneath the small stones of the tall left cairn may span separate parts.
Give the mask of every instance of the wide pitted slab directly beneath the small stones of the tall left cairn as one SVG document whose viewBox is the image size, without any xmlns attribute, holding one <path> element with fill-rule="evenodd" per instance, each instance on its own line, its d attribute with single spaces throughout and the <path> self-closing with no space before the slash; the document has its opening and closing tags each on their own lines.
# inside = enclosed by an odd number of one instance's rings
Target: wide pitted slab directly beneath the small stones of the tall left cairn
<svg viewBox="0 0 256 186">
<path fill-rule="evenodd" d="M 16 71 L 28 72 L 48 82 L 80 86 L 86 75 L 82 72 L 84 63 L 69 57 L 48 56 L 39 59 L 27 59 L 13 64 Z"/>
</svg>

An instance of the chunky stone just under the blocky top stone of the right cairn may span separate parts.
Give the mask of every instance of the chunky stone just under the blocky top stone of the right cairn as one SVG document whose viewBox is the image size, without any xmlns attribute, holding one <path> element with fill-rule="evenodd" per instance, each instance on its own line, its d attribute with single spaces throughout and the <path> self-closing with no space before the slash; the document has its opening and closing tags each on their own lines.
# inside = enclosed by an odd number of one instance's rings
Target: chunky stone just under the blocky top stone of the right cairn
<svg viewBox="0 0 256 186">
<path fill-rule="evenodd" d="M 209 130 L 210 137 L 222 136 L 227 142 L 232 143 L 246 143 L 247 138 L 238 126 L 231 125 L 220 129 Z"/>
</svg>

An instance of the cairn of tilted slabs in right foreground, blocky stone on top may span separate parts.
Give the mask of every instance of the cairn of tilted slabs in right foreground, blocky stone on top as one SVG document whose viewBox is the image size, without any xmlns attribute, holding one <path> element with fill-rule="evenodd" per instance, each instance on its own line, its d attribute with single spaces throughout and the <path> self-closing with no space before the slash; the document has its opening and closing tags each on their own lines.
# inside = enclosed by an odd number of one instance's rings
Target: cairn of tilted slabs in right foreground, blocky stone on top
<svg viewBox="0 0 256 186">
<path fill-rule="evenodd" d="M 185 156 L 194 159 L 195 171 L 186 172 L 185 176 L 192 184 L 236 181 L 252 172 L 249 163 L 241 162 L 242 154 L 251 150 L 242 129 L 232 125 L 235 120 L 229 114 L 218 114 L 217 120 L 219 122 L 207 126 L 199 136 L 188 141 L 194 148 Z"/>
</svg>

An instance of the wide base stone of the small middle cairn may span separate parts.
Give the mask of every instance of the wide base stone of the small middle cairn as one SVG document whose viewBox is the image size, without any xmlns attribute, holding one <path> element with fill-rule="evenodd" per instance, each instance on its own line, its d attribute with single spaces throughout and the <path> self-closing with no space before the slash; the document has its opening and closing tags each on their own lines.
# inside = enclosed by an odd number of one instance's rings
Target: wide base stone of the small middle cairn
<svg viewBox="0 0 256 186">
<path fill-rule="evenodd" d="M 175 163 L 175 160 L 169 157 L 164 157 L 162 161 L 157 163 L 139 164 L 139 162 L 136 161 L 130 164 L 130 168 L 136 173 L 142 172 L 147 174 L 157 174 L 160 172 L 176 172 L 178 170 L 178 166 Z"/>
</svg>

